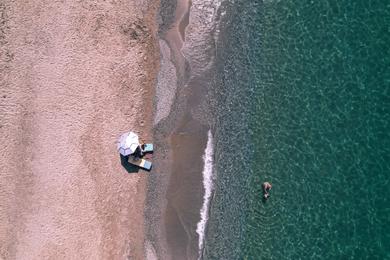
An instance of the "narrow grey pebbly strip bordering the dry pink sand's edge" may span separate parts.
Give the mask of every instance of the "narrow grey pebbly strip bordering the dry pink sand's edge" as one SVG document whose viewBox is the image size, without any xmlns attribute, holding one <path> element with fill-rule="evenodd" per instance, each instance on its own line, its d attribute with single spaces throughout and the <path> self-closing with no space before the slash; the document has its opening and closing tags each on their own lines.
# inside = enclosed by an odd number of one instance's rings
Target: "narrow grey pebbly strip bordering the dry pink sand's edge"
<svg viewBox="0 0 390 260">
<path fill-rule="evenodd" d="M 181 1 L 183 4 L 187 1 Z M 170 5 L 171 4 L 171 5 Z M 173 10 L 173 2 L 165 3 L 166 10 Z M 185 6 L 185 4 L 184 4 Z M 177 6 L 175 6 L 176 8 Z M 182 14 L 178 10 L 185 11 L 186 8 L 179 6 L 171 11 L 166 11 L 166 15 L 172 18 L 163 17 L 171 23 L 165 24 L 166 28 L 160 28 L 160 71 L 156 87 L 155 118 L 154 118 L 154 142 L 156 151 L 154 154 L 154 170 L 148 180 L 148 193 L 145 204 L 145 218 L 148 223 L 146 227 L 145 251 L 147 259 L 171 259 L 172 253 L 166 237 L 167 229 L 165 224 L 165 212 L 168 206 L 167 190 L 170 185 L 172 171 L 172 144 L 170 132 L 176 124 L 178 93 L 181 91 L 185 73 L 185 60 L 179 48 L 183 44 L 181 35 L 176 28 L 180 23 Z M 160 10 L 160 14 L 164 9 Z M 179 20 L 178 20 L 179 19 Z M 161 24 L 164 26 L 164 24 Z M 169 33 L 170 32 L 170 33 Z M 167 35 L 173 36 L 171 38 Z M 172 47 L 174 46 L 174 47 Z M 179 102 L 183 104 L 183 102 Z"/>
</svg>

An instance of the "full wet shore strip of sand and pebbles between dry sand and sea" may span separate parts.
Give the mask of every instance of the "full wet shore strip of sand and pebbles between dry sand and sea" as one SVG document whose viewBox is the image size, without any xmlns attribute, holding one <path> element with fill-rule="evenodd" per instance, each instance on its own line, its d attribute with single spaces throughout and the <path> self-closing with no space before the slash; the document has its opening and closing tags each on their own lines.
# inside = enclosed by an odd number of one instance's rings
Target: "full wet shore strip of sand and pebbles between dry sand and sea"
<svg viewBox="0 0 390 260">
<path fill-rule="evenodd" d="M 146 242 L 154 249 L 149 251 L 154 251 L 154 256 L 161 259 L 199 257 L 197 227 L 205 193 L 203 156 L 210 130 L 209 118 L 204 112 L 207 110 L 206 86 L 211 77 L 208 68 L 213 62 L 209 56 L 212 46 L 203 49 L 200 44 L 202 40 L 208 44 L 214 39 L 218 7 L 213 3 L 203 6 L 202 3 L 179 0 L 173 21 L 166 18 L 172 23 L 170 26 L 165 24 L 166 31 L 160 32 L 161 71 L 164 73 L 161 77 L 159 75 L 157 83 L 154 127 L 155 142 L 159 143 L 157 149 L 160 150 L 154 157 L 158 169 L 156 167 L 149 180 L 147 204 L 150 205 L 145 213 L 150 226 L 146 231 Z M 192 8 L 196 13 L 191 18 Z M 162 10 L 162 13 L 166 12 Z M 211 15 L 212 19 L 208 19 L 207 26 L 201 25 L 202 28 L 198 29 L 198 23 L 205 15 L 207 18 Z M 188 28 L 190 37 L 187 39 Z M 202 39 L 200 42 L 197 42 L 197 35 Z M 189 52 L 192 44 L 195 44 L 195 53 Z M 200 60 L 195 58 L 196 51 L 202 52 Z M 199 61 L 204 61 L 206 67 L 198 67 Z M 191 68 L 193 65 L 195 67 Z M 176 85 L 172 86 L 174 81 Z M 165 105 L 163 111 L 162 104 Z M 159 186 L 157 190 L 156 185 Z"/>
</svg>

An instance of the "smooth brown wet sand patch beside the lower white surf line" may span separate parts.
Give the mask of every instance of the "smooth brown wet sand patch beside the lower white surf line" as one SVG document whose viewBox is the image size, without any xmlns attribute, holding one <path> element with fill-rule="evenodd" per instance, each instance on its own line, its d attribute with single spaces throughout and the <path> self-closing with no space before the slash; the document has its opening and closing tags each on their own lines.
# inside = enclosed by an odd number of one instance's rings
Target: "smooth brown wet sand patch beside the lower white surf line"
<svg viewBox="0 0 390 260">
<path fill-rule="evenodd" d="M 206 148 L 207 127 L 185 117 L 171 135 L 172 173 L 167 192 L 165 225 L 173 259 L 198 258 L 196 224 L 200 220 L 204 189 L 202 155 Z"/>
</svg>

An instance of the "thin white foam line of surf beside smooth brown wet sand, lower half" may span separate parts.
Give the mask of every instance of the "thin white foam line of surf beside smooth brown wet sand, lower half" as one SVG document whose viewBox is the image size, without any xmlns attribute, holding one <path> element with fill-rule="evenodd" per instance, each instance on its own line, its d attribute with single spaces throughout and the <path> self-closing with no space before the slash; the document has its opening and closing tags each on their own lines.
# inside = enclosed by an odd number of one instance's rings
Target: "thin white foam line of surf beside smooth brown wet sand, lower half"
<svg viewBox="0 0 390 260">
<path fill-rule="evenodd" d="M 202 251 L 204 247 L 205 233 L 207 227 L 207 221 L 209 219 L 209 206 L 212 198 L 212 192 L 214 189 L 213 183 L 213 158 L 214 158 L 214 148 L 213 148 L 213 136 L 211 130 L 208 132 L 207 145 L 203 155 L 203 205 L 200 210 L 200 220 L 196 226 L 196 233 L 199 235 L 199 257 L 201 259 Z"/>
</svg>

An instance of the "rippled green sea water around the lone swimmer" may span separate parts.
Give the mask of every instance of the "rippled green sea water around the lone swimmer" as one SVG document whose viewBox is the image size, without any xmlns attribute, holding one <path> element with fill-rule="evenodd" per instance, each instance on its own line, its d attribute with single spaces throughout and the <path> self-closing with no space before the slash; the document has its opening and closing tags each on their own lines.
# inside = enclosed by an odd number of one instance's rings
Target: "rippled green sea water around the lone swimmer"
<svg viewBox="0 0 390 260">
<path fill-rule="evenodd" d="M 390 259 L 389 5 L 225 6 L 204 259 Z"/>
</svg>

